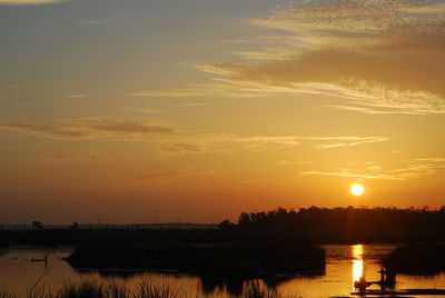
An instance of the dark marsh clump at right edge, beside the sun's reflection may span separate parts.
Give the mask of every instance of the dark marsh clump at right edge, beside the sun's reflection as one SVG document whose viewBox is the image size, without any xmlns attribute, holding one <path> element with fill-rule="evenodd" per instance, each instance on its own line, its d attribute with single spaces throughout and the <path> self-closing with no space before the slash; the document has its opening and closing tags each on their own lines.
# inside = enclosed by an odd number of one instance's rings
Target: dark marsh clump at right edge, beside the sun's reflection
<svg viewBox="0 0 445 298">
<path fill-rule="evenodd" d="M 397 247 L 383 264 L 395 274 L 436 275 L 445 271 L 445 245 L 419 244 Z"/>
</svg>

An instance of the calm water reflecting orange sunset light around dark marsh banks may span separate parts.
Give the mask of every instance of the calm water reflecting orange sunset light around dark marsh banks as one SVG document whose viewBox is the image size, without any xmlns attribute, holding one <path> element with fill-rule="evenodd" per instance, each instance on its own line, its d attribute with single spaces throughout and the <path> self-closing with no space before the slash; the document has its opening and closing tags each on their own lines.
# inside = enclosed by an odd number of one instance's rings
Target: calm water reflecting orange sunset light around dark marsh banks
<svg viewBox="0 0 445 298">
<path fill-rule="evenodd" d="M 356 245 L 356 246 L 325 246 L 327 252 L 326 270 L 319 277 L 295 277 L 291 279 L 268 280 L 267 285 L 276 286 L 286 297 L 334 297 L 348 296 L 354 290 L 353 282 L 362 275 L 367 280 L 378 280 L 377 272 L 380 267 L 378 259 L 388 254 L 394 246 L 389 245 Z M 78 272 L 67 262 L 61 260 L 70 254 L 70 249 L 44 250 L 18 247 L 0 251 L 0 288 L 6 287 L 17 295 L 22 294 L 27 287 L 33 285 L 42 275 L 41 282 L 48 286 L 60 285 L 65 281 L 95 278 L 136 286 L 141 280 L 141 275 L 109 277 L 98 272 Z M 48 255 L 48 265 L 36 262 Z M 234 297 L 243 289 L 239 281 L 225 282 L 206 281 L 197 277 L 185 275 L 151 274 L 159 282 L 168 282 L 175 287 L 187 290 L 192 297 L 224 298 Z M 445 274 L 434 277 L 413 277 L 399 275 L 396 278 L 396 289 L 404 288 L 445 288 Z M 373 286 L 376 289 L 377 286 Z M 372 288 L 373 288 L 372 287 Z M 231 294 L 231 296 L 230 296 Z M 436 296 L 437 297 L 437 296 Z"/>
</svg>

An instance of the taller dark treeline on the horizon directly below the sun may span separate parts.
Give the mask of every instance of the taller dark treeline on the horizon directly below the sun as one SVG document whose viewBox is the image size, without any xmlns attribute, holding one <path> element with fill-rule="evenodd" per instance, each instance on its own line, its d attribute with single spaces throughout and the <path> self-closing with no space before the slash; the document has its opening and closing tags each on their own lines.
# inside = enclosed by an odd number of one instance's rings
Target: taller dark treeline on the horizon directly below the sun
<svg viewBox="0 0 445 298">
<path fill-rule="evenodd" d="M 249 237 L 295 237 L 313 242 L 444 241 L 445 207 L 301 208 L 241 213 L 219 228 Z"/>
</svg>

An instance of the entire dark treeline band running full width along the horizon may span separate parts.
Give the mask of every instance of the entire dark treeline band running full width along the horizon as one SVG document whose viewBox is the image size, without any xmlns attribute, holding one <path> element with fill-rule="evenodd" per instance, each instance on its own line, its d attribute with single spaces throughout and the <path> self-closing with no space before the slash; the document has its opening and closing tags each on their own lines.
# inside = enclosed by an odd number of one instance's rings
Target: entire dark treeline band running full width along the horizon
<svg viewBox="0 0 445 298">
<path fill-rule="evenodd" d="M 78 227 L 79 225 L 77 225 Z M 445 207 L 427 208 L 300 208 L 241 213 L 219 229 L 46 229 L 0 230 L 0 245 L 78 245 L 92 240 L 156 242 L 233 242 L 239 239 L 294 238 L 316 244 L 415 242 L 445 240 Z"/>
</svg>

